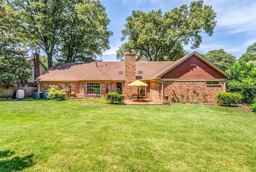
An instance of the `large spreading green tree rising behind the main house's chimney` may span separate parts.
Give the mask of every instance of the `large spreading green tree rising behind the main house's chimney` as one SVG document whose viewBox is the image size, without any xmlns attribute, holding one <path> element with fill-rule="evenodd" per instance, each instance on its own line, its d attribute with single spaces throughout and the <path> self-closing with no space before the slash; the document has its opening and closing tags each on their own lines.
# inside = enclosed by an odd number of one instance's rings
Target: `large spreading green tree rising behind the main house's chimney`
<svg viewBox="0 0 256 172">
<path fill-rule="evenodd" d="M 182 5 L 163 15 L 161 10 L 133 11 L 122 30 L 121 40 L 128 36 L 128 42 L 118 49 L 117 59 L 133 49 L 152 61 L 176 60 L 174 56 L 181 58 L 186 54 L 183 44 L 191 42 L 191 48 L 198 48 L 202 42 L 200 34 L 212 36 L 216 26 L 216 13 L 212 6 L 203 3 L 202 0 L 191 2 L 189 8 Z"/>
</svg>

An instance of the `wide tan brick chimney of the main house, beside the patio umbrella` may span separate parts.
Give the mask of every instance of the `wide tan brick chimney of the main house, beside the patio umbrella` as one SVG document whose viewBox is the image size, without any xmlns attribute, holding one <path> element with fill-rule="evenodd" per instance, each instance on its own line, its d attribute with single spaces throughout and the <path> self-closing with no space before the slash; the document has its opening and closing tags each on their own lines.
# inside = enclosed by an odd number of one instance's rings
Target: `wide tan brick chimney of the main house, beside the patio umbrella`
<svg viewBox="0 0 256 172">
<path fill-rule="evenodd" d="M 136 53 L 125 54 L 125 83 L 123 87 L 123 94 L 125 95 L 125 99 L 128 99 L 127 94 L 130 96 L 132 93 L 137 93 L 137 87 L 127 86 L 131 82 L 136 80 Z"/>
</svg>

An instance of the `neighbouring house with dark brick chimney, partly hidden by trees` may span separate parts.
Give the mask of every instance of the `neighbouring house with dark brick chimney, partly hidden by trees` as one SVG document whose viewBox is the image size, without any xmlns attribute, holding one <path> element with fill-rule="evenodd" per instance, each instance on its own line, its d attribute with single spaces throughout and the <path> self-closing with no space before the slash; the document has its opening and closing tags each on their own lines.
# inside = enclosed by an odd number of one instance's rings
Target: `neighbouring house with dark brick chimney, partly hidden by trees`
<svg viewBox="0 0 256 172">
<path fill-rule="evenodd" d="M 28 86 L 37 86 L 35 81 L 40 75 L 47 71 L 47 68 L 39 60 L 39 54 L 34 53 L 33 57 L 26 57 L 26 61 L 31 61 L 32 69 L 26 69 L 28 72 L 31 72 L 32 76 L 28 79 Z"/>
</svg>

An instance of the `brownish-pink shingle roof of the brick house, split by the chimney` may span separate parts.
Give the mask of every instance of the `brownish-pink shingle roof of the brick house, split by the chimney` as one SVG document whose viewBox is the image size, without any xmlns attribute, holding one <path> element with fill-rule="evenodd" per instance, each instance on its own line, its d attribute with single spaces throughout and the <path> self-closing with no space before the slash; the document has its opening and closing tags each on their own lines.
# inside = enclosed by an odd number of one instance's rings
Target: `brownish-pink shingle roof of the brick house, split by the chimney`
<svg viewBox="0 0 256 172">
<path fill-rule="evenodd" d="M 176 61 L 136 62 L 136 79 L 150 80 L 178 65 L 195 52 Z M 119 71 L 123 71 L 122 74 Z M 139 73 L 140 71 L 140 73 Z M 141 72 L 142 71 L 142 72 Z M 125 62 L 58 63 L 39 76 L 40 81 L 124 81 Z"/>
</svg>

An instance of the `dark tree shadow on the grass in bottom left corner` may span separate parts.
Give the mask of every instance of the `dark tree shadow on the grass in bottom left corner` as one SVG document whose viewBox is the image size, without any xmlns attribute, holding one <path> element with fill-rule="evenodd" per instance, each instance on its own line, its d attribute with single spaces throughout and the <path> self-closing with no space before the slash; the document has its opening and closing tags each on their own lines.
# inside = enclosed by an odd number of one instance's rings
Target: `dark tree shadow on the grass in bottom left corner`
<svg viewBox="0 0 256 172">
<path fill-rule="evenodd" d="M 17 172 L 22 171 L 25 168 L 33 166 L 33 156 L 30 154 L 27 156 L 12 156 L 15 152 L 10 150 L 0 151 L 0 171 L 1 172 Z"/>
</svg>

